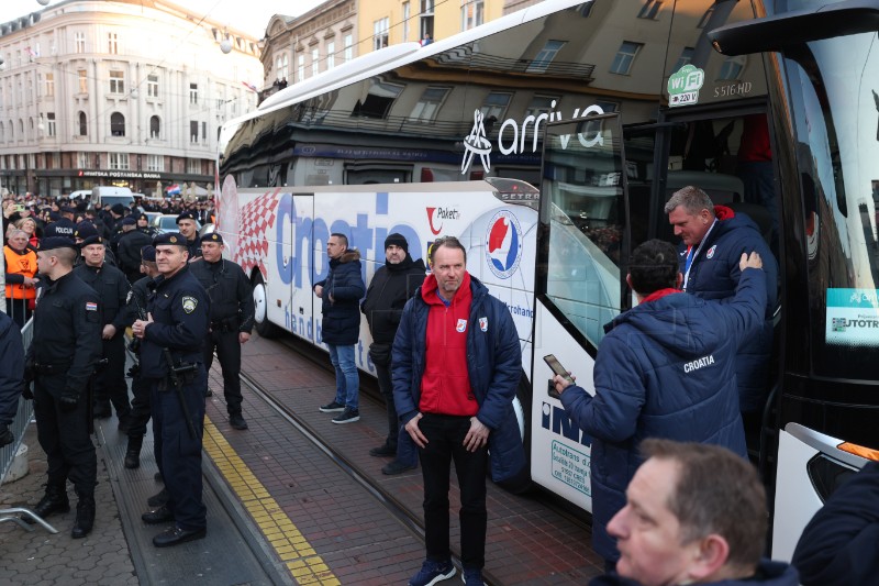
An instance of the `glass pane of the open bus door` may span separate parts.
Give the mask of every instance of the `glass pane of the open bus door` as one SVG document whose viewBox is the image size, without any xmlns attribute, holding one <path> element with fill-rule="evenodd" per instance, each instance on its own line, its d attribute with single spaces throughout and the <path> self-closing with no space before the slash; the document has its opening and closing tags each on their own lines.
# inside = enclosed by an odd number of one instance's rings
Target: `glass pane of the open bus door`
<svg viewBox="0 0 879 586">
<path fill-rule="evenodd" d="M 555 124 L 544 143 L 547 299 L 590 343 L 621 310 L 623 154 L 619 117 Z"/>
</svg>

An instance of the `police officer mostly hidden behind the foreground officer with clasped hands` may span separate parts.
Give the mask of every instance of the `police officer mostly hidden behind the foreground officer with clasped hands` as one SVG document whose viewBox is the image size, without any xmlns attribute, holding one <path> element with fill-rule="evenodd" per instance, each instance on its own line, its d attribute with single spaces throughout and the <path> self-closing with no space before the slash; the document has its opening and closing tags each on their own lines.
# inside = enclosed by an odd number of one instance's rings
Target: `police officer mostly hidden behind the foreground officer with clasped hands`
<svg viewBox="0 0 879 586">
<path fill-rule="evenodd" d="M 141 248 L 141 273 L 143 278 L 134 281 L 129 291 L 127 309 L 132 321 L 146 316 L 147 299 L 155 287 L 153 279 L 159 275 L 156 266 L 156 248 L 152 244 Z M 132 345 L 132 351 L 140 360 L 140 340 Z M 131 401 L 131 416 L 129 416 L 129 446 L 125 450 L 125 467 L 137 468 L 141 466 L 141 447 L 144 444 L 144 435 L 146 435 L 146 424 L 149 422 L 151 390 L 149 382 L 141 374 L 140 364 L 132 367 L 129 373 L 132 375 L 131 391 L 134 398 Z"/>
</svg>

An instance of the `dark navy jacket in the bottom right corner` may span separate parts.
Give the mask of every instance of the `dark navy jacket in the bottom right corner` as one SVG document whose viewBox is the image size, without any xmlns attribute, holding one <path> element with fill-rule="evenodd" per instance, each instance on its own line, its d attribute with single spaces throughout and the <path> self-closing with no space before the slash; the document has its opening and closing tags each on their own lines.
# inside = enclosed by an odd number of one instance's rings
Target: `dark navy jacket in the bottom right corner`
<svg viewBox="0 0 879 586">
<path fill-rule="evenodd" d="M 804 586 L 879 583 L 879 463 L 868 462 L 805 526 L 791 562 Z"/>
</svg>

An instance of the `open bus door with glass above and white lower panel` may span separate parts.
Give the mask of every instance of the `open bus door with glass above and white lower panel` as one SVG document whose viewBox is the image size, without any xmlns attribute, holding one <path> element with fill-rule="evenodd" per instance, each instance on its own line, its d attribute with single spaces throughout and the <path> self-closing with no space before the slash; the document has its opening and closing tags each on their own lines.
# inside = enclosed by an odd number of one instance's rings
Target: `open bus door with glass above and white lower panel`
<svg viewBox="0 0 879 586">
<path fill-rule="evenodd" d="M 532 479 L 591 511 L 591 438 L 548 390 L 554 354 L 591 390 L 603 325 L 630 307 L 626 167 L 619 114 L 547 124 L 535 283 Z"/>
</svg>

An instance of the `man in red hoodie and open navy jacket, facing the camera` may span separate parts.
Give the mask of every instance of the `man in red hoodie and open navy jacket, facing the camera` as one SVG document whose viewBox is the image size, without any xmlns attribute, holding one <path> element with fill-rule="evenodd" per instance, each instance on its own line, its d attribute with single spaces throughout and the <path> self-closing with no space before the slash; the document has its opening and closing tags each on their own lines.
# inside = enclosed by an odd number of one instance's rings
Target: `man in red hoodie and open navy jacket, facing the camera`
<svg viewBox="0 0 879 586">
<path fill-rule="evenodd" d="M 513 412 L 522 373 L 519 335 L 507 306 L 467 273 L 455 237 L 431 250 L 433 273 L 410 299 L 393 341 L 393 400 L 419 446 L 424 476 L 426 561 L 410 585 L 452 577 L 449 465 L 460 487 L 465 584 L 482 583 L 486 557 L 486 469 L 494 482 L 525 471 Z"/>
</svg>

